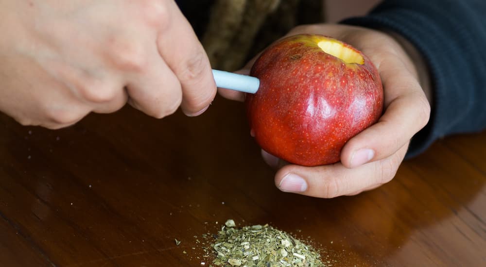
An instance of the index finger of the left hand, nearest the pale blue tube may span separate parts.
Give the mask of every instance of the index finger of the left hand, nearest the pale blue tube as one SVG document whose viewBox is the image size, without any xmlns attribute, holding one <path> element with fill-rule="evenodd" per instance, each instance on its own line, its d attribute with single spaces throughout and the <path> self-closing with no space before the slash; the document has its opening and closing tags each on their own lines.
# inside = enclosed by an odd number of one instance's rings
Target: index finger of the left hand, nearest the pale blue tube
<svg viewBox="0 0 486 267">
<path fill-rule="evenodd" d="M 183 112 L 189 116 L 197 116 L 214 99 L 216 84 L 208 56 L 189 22 L 175 2 L 169 2 L 167 15 L 171 19 L 157 38 L 158 52 L 180 82 Z"/>
</svg>

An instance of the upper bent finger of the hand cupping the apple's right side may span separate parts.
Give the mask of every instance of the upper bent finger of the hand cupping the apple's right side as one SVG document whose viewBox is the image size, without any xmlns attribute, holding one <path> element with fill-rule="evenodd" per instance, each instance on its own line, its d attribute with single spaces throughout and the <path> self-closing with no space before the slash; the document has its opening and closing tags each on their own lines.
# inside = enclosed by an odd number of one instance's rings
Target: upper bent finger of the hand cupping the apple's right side
<svg viewBox="0 0 486 267">
<path fill-rule="evenodd" d="M 379 67 L 386 111 L 376 124 L 347 142 L 341 152 L 345 167 L 389 157 L 429 121 L 430 105 L 417 78 L 397 61 L 385 60 Z"/>
</svg>

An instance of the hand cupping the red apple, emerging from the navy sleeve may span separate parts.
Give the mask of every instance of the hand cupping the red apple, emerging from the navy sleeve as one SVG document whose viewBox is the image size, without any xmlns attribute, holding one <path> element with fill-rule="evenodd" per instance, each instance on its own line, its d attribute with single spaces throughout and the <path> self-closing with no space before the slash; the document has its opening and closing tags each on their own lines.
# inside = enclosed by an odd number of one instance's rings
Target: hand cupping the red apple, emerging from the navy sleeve
<svg viewBox="0 0 486 267">
<path fill-rule="evenodd" d="M 382 79 L 384 113 L 376 124 L 347 142 L 341 151 L 341 161 L 336 164 L 318 167 L 289 165 L 262 150 L 269 165 L 280 167 L 275 175 L 276 185 L 285 192 L 333 198 L 355 195 L 389 182 L 405 156 L 410 139 L 430 117 L 426 97 L 426 93 L 430 96 L 428 77 L 418 75 L 417 69 L 420 73 L 425 73 L 423 70 L 426 69 L 419 54 L 399 36 L 394 38 L 388 33 L 366 28 L 305 25 L 287 35 L 299 33 L 328 35 L 367 55 Z M 229 99 L 243 99 L 242 94 L 234 91 L 220 89 L 220 93 Z"/>
</svg>

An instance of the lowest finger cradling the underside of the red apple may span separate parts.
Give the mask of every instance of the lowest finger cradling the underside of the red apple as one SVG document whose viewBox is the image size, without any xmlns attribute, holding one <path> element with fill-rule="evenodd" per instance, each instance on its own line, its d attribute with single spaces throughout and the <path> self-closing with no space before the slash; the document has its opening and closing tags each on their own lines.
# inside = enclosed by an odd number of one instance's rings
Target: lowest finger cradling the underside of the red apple
<svg viewBox="0 0 486 267">
<path fill-rule="evenodd" d="M 406 151 L 405 145 L 385 159 L 353 169 L 340 163 L 319 167 L 287 165 L 277 172 L 275 184 L 284 192 L 318 198 L 356 195 L 393 179 Z"/>
</svg>

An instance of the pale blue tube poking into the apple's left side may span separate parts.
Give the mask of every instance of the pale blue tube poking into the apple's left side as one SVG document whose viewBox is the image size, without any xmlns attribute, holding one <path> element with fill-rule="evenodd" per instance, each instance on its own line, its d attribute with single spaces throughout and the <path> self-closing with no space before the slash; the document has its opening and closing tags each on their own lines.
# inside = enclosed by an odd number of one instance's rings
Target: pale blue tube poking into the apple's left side
<svg viewBox="0 0 486 267">
<path fill-rule="evenodd" d="M 255 77 L 216 69 L 212 71 L 216 86 L 221 88 L 255 94 L 260 86 L 260 80 Z"/>
</svg>

